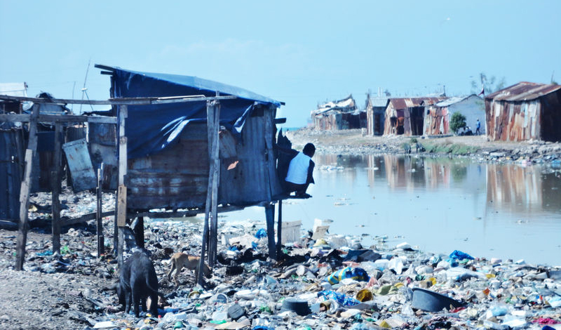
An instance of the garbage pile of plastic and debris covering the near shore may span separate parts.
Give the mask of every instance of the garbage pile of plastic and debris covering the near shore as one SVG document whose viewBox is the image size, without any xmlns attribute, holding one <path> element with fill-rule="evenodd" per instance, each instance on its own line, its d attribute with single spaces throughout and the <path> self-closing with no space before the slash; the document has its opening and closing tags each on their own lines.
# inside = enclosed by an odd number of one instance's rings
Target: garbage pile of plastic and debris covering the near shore
<svg viewBox="0 0 561 330">
<path fill-rule="evenodd" d="M 247 220 L 221 224 L 221 252 L 205 285 L 184 270 L 175 287 L 165 279 L 169 253 L 196 255 L 201 225 L 148 227 L 165 298 L 159 315 L 106 313 L 95 329 L 561 329 L 557 267 L 427 253 L 406 242 L 388 246 L 384 237 L 364 247 L 325 226 L 302 230 L 271 260 L 263 223 Z"/>
</svg>

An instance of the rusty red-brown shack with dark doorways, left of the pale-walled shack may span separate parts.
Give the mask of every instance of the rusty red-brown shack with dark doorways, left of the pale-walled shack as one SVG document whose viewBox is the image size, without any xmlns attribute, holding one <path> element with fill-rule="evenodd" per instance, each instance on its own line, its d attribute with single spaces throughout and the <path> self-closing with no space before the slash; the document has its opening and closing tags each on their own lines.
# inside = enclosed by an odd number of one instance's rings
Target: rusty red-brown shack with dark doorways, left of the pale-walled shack
<svg viewBox="0 0 561 330">
<path fill-rule="evenodd" d="M 390 98 L 386 107 L 384 136 L 423 135 L 426 107 L 445 99 L 445 97 Z"/>
</svg>

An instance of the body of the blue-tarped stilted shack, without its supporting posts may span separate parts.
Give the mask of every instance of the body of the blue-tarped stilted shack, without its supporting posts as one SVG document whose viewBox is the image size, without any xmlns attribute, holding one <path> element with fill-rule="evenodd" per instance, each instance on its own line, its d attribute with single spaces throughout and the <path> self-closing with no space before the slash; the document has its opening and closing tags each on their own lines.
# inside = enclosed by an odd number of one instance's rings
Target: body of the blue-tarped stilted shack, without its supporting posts
<svg viewBox="0 0 561 330">
<path fill-rule="evenodd" d="M 219 204 L 270 202 L 282 194 L 273 157 L 280 102 L 198 77 L 97 65 L 111 75 L 111 98 L 232 95 L 220 100 Z M 119 115 L 119 107 L 114 115 Z M 205 205 L 209 180 L 207 103 L 129 105 L 127 209 Z"/>
</svg>

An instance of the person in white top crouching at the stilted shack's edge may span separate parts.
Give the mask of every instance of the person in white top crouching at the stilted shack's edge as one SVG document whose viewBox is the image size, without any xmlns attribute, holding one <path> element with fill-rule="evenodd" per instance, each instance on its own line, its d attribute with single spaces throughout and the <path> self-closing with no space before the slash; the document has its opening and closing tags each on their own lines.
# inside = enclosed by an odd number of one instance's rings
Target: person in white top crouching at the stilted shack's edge
<svg viewBox="0 0 561 330">
<path fill-rule="evenodd" d="M 312 174 L 313 167 L 316 164 L 311 160 L 311 157 L 316 153 L 316 146 L 312 143 L 307 143 L 302 152 L 291 151 L 297 154 L 290 160 L 288 165 L 285 187 L 288 193 L 295 192 L 297 197 L 309 198 L 311 195 L 307 194 L 306 190 L 308 190 L 310 183 L 314 183 Z"/>
</svg>

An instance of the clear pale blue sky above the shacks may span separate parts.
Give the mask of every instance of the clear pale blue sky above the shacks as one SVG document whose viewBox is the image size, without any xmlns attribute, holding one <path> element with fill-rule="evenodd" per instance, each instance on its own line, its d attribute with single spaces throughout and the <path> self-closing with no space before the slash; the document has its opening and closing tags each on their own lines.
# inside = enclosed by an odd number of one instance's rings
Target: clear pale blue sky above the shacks
<svg viewBox="0 0 561 330">
<path fill-rule="evenodd" d="M 363 108 L 379 88 L 466 95 L 481 72 L 561 83 L 560 12 L 557 0 L 0 0 L 0 83 L 106 100 L 95 64 L 184 74 L 285 102 L 277 117 L 299 127 L 320 103 L 352 94 Z"/>
</svg>

